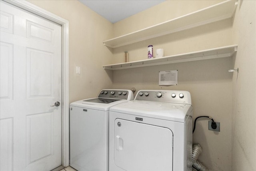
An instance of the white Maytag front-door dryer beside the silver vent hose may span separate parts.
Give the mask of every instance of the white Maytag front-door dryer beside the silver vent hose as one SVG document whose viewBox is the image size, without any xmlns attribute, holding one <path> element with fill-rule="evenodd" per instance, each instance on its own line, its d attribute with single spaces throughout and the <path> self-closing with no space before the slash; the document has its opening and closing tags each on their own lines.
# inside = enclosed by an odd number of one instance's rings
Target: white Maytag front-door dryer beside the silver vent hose
<svg viewBox="0 0 256 171">
<path fill-rule="evenodd" d="M 192 170 L 192 105 L 188 91 L 140 90 L 110 108 L 110 171 Z"/>
</svg>

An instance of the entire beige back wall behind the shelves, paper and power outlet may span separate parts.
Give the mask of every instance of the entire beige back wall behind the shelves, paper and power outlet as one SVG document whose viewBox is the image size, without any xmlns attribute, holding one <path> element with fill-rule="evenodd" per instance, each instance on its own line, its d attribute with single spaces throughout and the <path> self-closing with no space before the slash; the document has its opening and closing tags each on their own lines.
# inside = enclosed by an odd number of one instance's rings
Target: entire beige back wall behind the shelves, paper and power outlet
<svg viewBox="0 0 256 171">
<path fill-rule="evenodd" d="M 166 1 L 114 24 L 115 34 L 127 34 L 150 26 L 151 21 L 158 24 L 217 2 L 220 1 Z M 165 56 L 232 45 L 232 20 L 116 48 L 114 62 L 124 62 L 124 51 L 128 51 L 130 61 L 147 59 L 147 46 L 150 44 L 154 46 L 154 50 L 164 48 Z M 230 57 L 115 70 L 113 87 L 190 91 L 194 107 L 193 117 L 209 115 L 220 122 L 221 127 L 220 132 L 209 131 L 208 119 L 197 121 L 193 142 L 202 145 L 203 152 L 199 160 L 214 171 L 229 171 L 232 166 L 232 73 L 228 70 L 233 67 L 233 58 Z M 177 86 L 158 85 L 158 72 L 166 70 L 178 70 Z"/>
</svg>

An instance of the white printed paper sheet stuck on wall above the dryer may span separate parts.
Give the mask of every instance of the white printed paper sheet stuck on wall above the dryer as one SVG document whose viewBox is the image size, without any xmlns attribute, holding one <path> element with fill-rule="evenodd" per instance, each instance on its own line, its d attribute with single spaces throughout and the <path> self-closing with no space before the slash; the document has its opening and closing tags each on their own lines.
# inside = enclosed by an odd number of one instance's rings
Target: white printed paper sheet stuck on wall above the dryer
<svg viewBox="0 0 256 171">
<path fill-rule="evenodd" d="M 159 85 L 178 85 L 178 70 L 160 71 Z"/>
</svg>

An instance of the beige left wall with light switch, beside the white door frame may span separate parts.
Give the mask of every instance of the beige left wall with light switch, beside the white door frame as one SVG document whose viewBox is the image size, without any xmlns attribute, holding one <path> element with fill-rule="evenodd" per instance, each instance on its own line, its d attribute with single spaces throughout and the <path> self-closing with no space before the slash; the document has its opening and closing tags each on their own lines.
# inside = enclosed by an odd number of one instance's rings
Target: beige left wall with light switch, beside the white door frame
<svg viewBox="0 0 256 171">
<path fill-rule="evenodd" d="M 28 0 L 69 21 L 70 103 L 96 97 L 101 89 L 112 87 L 112 72 L 102 66 L 112 61 L 112 50 L 103 40 L 113 36 L 113 24 L 76 0 Z M 76 66 L 81 74 L 76 74 Z"/>
</svg>

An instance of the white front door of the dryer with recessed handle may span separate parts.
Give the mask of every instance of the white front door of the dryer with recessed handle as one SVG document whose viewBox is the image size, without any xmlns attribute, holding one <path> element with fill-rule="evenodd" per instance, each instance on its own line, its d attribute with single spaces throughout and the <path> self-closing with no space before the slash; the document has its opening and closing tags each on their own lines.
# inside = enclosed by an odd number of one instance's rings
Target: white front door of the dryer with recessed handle
<svg viewBox="0 0 256 171">
<path fill-rule="evenodd" d="M 172 131 L 124 119 L 114 123 L 114 162 L 127 171 L 172 171 Z"/>
</svg>

